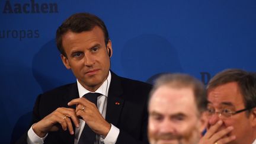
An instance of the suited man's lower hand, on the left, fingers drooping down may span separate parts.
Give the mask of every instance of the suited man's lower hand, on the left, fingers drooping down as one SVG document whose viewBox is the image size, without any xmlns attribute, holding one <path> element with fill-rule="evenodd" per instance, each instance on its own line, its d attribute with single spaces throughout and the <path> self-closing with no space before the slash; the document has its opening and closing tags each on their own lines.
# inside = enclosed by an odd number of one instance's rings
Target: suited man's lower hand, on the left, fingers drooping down
<svg viewBox="0 0 256 144">
<path fill-rule="evenodd" d="M 69 129 L 69 133 L 73 135 L 73 126 L 71 120 L 76 127 L 79 127 L 79 119 L 76 117 L 75 110 L 73 108 L 60 107 L 50 113 L 44 119 L 35 123 L 32 127 L 34 132 L 39 137 L 44 137 L 48 132 L 59 130 L 58 124 L 63 130 Z"/>
</svg>

